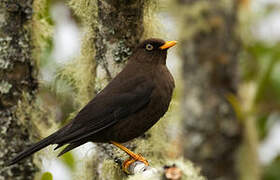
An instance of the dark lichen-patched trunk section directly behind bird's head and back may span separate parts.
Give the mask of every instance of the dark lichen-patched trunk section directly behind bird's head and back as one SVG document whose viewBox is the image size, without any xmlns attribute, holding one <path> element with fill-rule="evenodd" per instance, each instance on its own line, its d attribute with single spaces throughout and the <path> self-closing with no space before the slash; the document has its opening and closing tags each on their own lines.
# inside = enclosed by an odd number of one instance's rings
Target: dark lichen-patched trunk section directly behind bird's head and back
<svg viewBox="0 0 280 180">
<path fill-rule="evenodd" d="M 97 0 L 97 8 L 97 78 L 111 80 L 121 71 L 143 35 L 144 0 Z"/>
</svg>

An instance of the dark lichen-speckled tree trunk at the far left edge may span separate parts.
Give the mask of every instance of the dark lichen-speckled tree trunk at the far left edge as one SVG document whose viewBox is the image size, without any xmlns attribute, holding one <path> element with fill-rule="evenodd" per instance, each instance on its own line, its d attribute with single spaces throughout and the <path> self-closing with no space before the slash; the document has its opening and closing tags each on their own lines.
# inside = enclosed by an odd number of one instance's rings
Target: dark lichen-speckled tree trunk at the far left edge
<svg viewBox="0 0 280 180">
<path fill-rule="evenodd" d="M 5 163 L 31 143 L 30 121 L 21 122 L 23 96 L 34 99 L 36 67 L 31 57 L 32 0 L 0 2 L 0 179 L 33 179 L 38 168 L 33 157 L 6 167 Z"/>
</svg>

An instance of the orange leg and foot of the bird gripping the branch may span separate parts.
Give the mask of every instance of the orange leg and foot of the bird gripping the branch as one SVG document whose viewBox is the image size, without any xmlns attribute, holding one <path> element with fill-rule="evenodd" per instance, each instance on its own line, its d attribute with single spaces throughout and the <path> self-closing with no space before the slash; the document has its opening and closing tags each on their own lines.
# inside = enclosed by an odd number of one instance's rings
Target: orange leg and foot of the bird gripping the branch
<svg viewBox="0 0 280 180">
<path fill-rule="evenodd" d="M 116 143 L 114 141 L 111 141 L 112 144 L 114 144 L 115 146 L 117 146 L 118 148 L 120 148 L 121 150 L 123 150 L 124 152 L 126 152 L 130 158 L 128 158 L 127 160 L 125 160 L 122 164 L 122 168 L 123 170 L 129 174 L 129 172 L 127 171 L 128 167 L 130 166 L 130 164 L 132 164 L 135 161 L 141 161 L 143 162 L 146 166 L 149 166 L 148 161 L 141 156 L 140 154 L 136 154 L 134 152 L 132 152 L 131 150 L 127 149 L 126 147 L 124 147 L 123 145 Z"/>
</svg>

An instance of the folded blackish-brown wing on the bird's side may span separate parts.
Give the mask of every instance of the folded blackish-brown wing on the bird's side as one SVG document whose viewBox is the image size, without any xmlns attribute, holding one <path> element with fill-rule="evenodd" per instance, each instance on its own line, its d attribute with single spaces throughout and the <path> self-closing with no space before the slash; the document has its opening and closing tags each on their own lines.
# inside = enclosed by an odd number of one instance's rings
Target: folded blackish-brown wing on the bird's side
<svg viewBox="0 0 280 180">
<path fill-rule="evenodd" d="M 116 87 L 117 86 L 117 87 Z M 147 78 L 127 80 L 114 90 L 106 89 L 89 102 L 57 137 L 59 147 L 73 143 L 112 126 L 119 120 L 144 108 L 150 101 L 154 84 Z"/>
</svg>

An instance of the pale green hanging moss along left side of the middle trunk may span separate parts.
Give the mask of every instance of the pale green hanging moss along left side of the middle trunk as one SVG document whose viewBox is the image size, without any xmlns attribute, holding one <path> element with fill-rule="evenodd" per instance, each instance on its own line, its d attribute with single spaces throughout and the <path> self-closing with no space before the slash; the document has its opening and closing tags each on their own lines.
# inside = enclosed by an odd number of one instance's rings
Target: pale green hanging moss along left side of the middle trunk
<svg viewBox="0 0 280 180">
<path fill-rule="evenodd" d="M 84 37 L 81 54 L 57 72 L 57 78 L 64 79 L 76 92 L 75 102 L 78 107 L 85 105 L 94 95 L 95 84 L 95 50 L 93 47 L 96 22 L 96 1 L 70 1 L 69 5 L 75 15 L 81 19 Z"/>
</svg>

